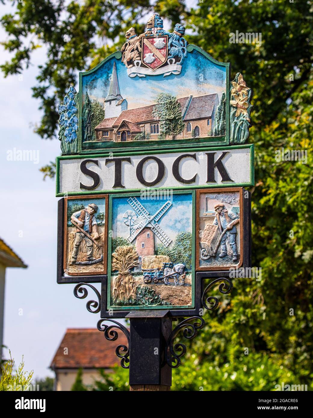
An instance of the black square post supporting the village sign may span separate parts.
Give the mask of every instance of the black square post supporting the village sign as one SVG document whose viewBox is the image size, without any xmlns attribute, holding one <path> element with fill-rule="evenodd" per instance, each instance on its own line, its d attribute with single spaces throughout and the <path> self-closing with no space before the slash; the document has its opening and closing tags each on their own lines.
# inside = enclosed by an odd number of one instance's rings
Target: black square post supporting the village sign
<svg viewBox="0 0 313 418">
<path fill-rule="evenodd" d="M 172 369 L 165 361 L 166 341 L 172 332 L 168 311 L 150 311 L 142 317 L 131 312 L 129 385 L 130 390 L 167 391 L 172 385 Z"/>
</svg>

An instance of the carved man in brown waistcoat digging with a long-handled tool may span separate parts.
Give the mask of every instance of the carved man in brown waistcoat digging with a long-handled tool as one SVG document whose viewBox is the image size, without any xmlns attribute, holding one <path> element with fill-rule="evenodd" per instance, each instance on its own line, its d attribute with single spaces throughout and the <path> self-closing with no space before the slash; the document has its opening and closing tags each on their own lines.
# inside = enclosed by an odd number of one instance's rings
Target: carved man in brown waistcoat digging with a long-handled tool
<svg viewBox="0 0 313 418">
<path fill-rule="evenodd" d="M 82 209 L 72 214 L 71 219 L 79 225 L 87 234 L 93 234 L 93 238 L 97 240 L 99 238 L 98 224 L 95 218 L 95 213 L 98 211 L 98 206 L 94 203 L 90 203 L 87 208 Z M 74 249 L 72 252 L 72 260 L 70 264 L 75 264 L 78 255 L 78 249 L 82 239 L 85 240 L 87 245 L 87 261 L 95 260 L 93 255 L 93 242 L 88 238 L 80 229 L 76 228 Z"/>
</svg>

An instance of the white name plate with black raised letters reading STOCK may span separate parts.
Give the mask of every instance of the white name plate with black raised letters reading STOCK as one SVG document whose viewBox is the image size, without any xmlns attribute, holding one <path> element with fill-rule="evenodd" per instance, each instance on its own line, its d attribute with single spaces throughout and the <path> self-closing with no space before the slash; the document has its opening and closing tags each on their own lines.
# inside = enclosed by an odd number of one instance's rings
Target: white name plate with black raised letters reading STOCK
<svg viewBox="0 0 313 418">
<path fill-rule="evenodd" d="M 57 158 L 56 196 L 254 186 L 254 145 Z"/>
</svg>

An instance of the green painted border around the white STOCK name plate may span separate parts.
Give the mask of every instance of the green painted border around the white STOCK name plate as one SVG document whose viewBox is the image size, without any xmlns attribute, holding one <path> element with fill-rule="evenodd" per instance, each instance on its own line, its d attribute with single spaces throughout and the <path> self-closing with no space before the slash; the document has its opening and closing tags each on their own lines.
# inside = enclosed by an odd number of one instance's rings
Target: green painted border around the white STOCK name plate
<svg viewBox="0 0 313 418">
<path fill-rule="evenodd" d="M 228 184 L 204 184 L 199 186 L 173 186 L 173 187 L 167 187 L 167 189 L 173 189 L 173 190 L 192 190 L 192 189 L 213 189 L 217 187 L 250 187 L 254 186 L 254 144 L 245 144 L 245 145 L 231 145 L 228 147 L 205 147 L 205 148 L 190 148 L 189 150 L 186 148 L 183 149 L 177 149 L 173 150 L 172 152 L 195 152 L 195 151 L 231 151 L 233 149 L 240 149 L 240 148 L 250 148 L 250 181 L 249 183 L 228 183 Z M 156 154 L 164 154 L 166 153 L 166 150 L 146 150 L 146 151 L 138 151 L 138 152 L 126 152 L 118 154 L 119 157 L 123 155 L 156 155 Z M 168 151 L 169 153 L 171 151 Z M 60 157 L 56 157 L 56 197 L 63 197 L 63 196 L 80 196 L 84 194 L 117 194 L 117 193 L 125 193 L 125 189 L 121 190 L 88 190 L 88 191 L 73 191 L 68 193 L 60 193 L 60 161 L 61 160 L 72 160 L 72 159 L 79 159 L 79 158 L 100 158 L 100 157 L 110 157 L 110 153 L 104 153 L 104 154 L 93 154 L 93 155 L 62 155 Z M 142 186 L 140 189 L 127 189 L 127 192 L 138 192 L 142 189 L 145 189 L 144 186 Z M 150 190 L 161 190 L 166 189 L 166 187 L 151 187 Z"/>
</svg>

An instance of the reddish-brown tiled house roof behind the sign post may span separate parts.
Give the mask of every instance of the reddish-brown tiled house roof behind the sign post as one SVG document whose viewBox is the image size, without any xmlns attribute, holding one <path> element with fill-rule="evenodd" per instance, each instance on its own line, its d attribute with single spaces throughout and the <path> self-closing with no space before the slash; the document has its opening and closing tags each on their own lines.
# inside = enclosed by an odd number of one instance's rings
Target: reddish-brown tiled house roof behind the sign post
<svg viewBox="0 0 313 418">
<path fill-rule="evenodd" d="M 108 341 L 103 332 L 95 328 L 68 328 L 50 367 L 53 370 L 113 367 L 120 362 L 115 354 L 119 344 L 128 345 L 121 331 L 118 332 L 117 340 Z M 65 347 L 68 354 L 64 354 Z"/>
</svg>

